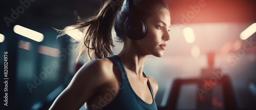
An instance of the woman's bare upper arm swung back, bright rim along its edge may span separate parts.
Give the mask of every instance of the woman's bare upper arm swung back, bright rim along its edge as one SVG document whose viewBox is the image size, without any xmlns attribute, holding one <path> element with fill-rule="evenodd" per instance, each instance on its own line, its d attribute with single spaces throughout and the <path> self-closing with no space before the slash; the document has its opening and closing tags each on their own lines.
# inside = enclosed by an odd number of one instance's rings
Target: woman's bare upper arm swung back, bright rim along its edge
<svg viewBox="0 0 256 110">
<path fill-rule="evenodd" d="M 106 81 L 101 60 L 84 64 L 50 109 L 79 109 Z"/>
</svg>

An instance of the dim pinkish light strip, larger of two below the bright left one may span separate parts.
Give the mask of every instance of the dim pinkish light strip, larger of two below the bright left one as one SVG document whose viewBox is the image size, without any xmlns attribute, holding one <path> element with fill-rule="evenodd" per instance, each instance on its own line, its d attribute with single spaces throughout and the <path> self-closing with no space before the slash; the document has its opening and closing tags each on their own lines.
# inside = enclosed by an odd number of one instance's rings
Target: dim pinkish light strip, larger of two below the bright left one
<svg viewBox="0 0 256 110">
<path fill-rule="evenodd" d="M 38 53 L 40 54 L 45 54 L 53 57 L 58 57 L 59 56 L 59 49 L 56 48 L 51 48 L 47 46 L 39 46 L 37 49 Z"/>
</svg>

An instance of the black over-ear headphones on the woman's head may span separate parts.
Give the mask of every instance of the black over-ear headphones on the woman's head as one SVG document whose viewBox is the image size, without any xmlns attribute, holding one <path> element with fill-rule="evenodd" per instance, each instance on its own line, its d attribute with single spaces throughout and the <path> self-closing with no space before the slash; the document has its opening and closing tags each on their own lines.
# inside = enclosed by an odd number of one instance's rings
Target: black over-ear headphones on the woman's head
<svg viewBox="0 0 256 110">
<path fill-rule="evenodd" d="M 132 16 L 130 12 L 129 0 L 126 0 L 125 7 L 126 7 L 127 18 L 123 24 L 124 34 L 132 40 L 142 39 L 146 34 L 145 22 L 135 16 Z"/>
</svg>

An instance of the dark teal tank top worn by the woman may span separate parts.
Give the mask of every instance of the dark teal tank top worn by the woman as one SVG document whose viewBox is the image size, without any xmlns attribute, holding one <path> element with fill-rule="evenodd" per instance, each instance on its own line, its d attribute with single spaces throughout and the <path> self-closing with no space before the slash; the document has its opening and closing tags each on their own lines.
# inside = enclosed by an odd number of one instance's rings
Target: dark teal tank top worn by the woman
<svg viewBox="0 0 256 110">
<path fill-rule="evenodd" d="M 117 55 L 113 55 L 109 58 L 113 63 L 117 65 L 122 78 L 122 85 L 116 98 L 110 102 L 108 105 L 102 107 L 101 110 L 156 110 L 157 105 L 154 99 L 154 93 L 150 85 L 151 96 L 153 98 L 153 103 L 149 104 L 143 101 L 132 89 L 129 79 L 126 75 L 126 71 L 120 58 Z M 144 73 L 143 73 L 144 74 Z M 144 74 L 144 76 L 146 76 Z M 149 81 L 148 81 L 149 82 Z"/>
</svg>

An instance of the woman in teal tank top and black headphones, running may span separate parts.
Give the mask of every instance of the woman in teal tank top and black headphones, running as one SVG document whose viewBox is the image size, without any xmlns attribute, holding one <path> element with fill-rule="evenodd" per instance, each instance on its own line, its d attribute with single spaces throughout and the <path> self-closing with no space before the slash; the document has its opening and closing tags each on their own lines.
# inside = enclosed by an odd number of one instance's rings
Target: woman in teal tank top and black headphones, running
<svg viewBox="0 0 256 110">
<path fill-rule="evenodd" d="M 163 56 L 170 39 L 168 6 L 164 0 L 123 3 L 108 0 L 96 15 L 73 26 L 86 33 L 76 61 L 85 52 L 93 60 L 75 74 L 50 109 L 79 109 L 85 102 L 88 109 L 157 109 L 158 84 L 143 73 L 143 65 L 148 55 Z M 117 55 L 111 51 L 113 24 L 124 42 Z"/>
</svg>

